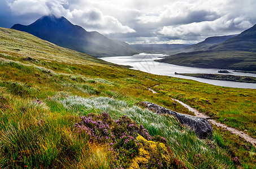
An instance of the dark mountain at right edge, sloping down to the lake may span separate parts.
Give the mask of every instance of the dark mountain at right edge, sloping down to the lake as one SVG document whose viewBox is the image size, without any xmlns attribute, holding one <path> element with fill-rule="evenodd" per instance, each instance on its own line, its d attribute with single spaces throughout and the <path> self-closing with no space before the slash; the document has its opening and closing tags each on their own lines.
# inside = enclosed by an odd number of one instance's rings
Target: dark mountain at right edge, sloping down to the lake
<svg viewBox="0 0 256 169">
<path fill-rule="evenodd" d="M 256 71 L 256 25 L 203 51 L 167 56 L 164 63 L 199 68 Z"/>
</svg>

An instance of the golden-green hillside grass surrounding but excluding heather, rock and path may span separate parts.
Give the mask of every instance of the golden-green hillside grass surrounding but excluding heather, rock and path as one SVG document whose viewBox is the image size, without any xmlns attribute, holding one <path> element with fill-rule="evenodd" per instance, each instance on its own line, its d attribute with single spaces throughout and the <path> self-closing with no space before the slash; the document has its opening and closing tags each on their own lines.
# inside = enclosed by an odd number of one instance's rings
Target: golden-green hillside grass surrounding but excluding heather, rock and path
<svg viewBox="0 0 256 169">
<path fill-rule="evenodd" d="M 0 113 L 2 113 L 0 136 L 3 140 L 0 142 L 0 160 L 3 166 L 5 164 L 11 164 L 12 167 L 22 164 L 36 166 L 41 162 L 49 167 L 59 163 L 70 168 L 80 167 L 88 159 L 88 154 L 94 154 L 91 155 L 95 157 L 90 161 L 92 165 L 97 163 L 101 165 L 103 162 L 99 162 L 101 158 L 97 157 L 103 155 L 102 159 L 106 158 L 107 161 L 109 156 L 107 153 L 96 154 L 96 152 L 98 149 L 104 152 L 105 146 L 92 147 L 83 152 L 86 139 L 74 134 L 72 126 L 79 121 L 78 116 L 102 111 L 110 113 L 114 119 L 127 114 L 134 121 L 144 124 L 151 134 L 166 137 L 176 157 L 183 160 L 189 168 L 198 168 L 200 165 L 201 168 L 235 167 L 231 158 L 236 156 L 241 159 L 242 166 L 254 165 L 255 149 L 247 143 L 244 144 L 249 149 L 238 151 L 234 143 L 239 144 L 239 141 L 226 143 L 221 136 L 222 132 L 216 132 L 210 140 L 199 140 L 188 129 L 180 130 L 179 124 L 168 122 L 172 121 L 169 117 L 159 117 L 163 118 L 162 122 L 156 122 L 157 116 L 153 119 L 150 118 L 153 117 L 152 115 L 147 117 L 142 110 L 136 110 L 140 108 L 133 106 L 137 101 L 146 100 L 177 112 L 189 113 L 179 104 L 174 106 L 171 101 L 173 97 L 228 126 L 247 130 L 249 135 L 256 137 L 255 90 L 216 87 L 138 72 L 55 46 L 30 34 L 11 29 L 1 28 L 0 40 Z M 30 61 L 21 59 L 28 57 L 33 59 Z M 154 95 L 147 88 L 155 84 L 160 85 L 153 87 L 159 93 Z M 72 100 L 68 95 L 80 96 L 81 99 Z M 127 104 L 115 108 L 115 101 L 110 101 L 109 108 L 98 105 L 94 108 L 84 106 L 86 102 L 83 99 L 88 97 L 92 98 L 94 103 L 101 103 L 101 101 L 97 102 L 97 97 L 91 97 L 92 95 L 112 97 L 116 101 L 124 100 Z M 64 104 L 62 101 L 65 98 L 71 99 L 75 104 L 69 100 L 70 106 L 66 107 L 66 102 Z M 113 108 L 115 109 L 112 110 Z M 35 123 L 39 127 L 34 125 Z M 173 127 L 176 128 L 174 135 L 174 131 L 171 130 Z M 19 142 L 20 136 L 15 133 L 24 136 L 20 139 L 22 143 Z M 71 140 L 65 139 L 67 136 L 70 136 Z M 226 139 L 230 140 L 228 137 Z M 28 145 L 32 147 L 28 148 Z M 73 150 L 64 147 L 71 147 Z M 70 158 L 68 151 L 79 152 L 73 155 L 75 157 L 72 156 L 75 158 L 72 159 L 75 164 L 72 164 L 71 159 L 67 160 Z M 5 152 L 9 152 L 10 156 L 6 157 Z M 31 156 L 33 152 L 37 154 Z M 209 155 L 214 157 L 214 160 L 209 161 Z M 33 157 L 36 162 L 28 157 Z M 83 167 L 88 168 L 88 166 Z"/>
</svg>

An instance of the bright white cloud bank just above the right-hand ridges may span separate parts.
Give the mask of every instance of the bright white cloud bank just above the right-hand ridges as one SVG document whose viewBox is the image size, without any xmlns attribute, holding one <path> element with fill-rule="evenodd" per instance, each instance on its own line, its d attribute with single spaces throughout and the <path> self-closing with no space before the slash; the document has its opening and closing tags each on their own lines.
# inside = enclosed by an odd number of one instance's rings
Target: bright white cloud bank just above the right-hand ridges
<svg viewBox="0 0 256 169">
<path fill-rule="evenodd" d="M 190 24 L 163 26 L 159 31 L 160 34 L 169 38 L 197 39 L 200 37 L 209 37 L 214 35 L 237 34 L 241 30 L 253 26 L 250 21 L 244 17 L 230 18 L 228 15 L 220 17 L 213 21 L 194 22 Z M 200 39 L 201 40 L 201 39 Z"/>
</svg>

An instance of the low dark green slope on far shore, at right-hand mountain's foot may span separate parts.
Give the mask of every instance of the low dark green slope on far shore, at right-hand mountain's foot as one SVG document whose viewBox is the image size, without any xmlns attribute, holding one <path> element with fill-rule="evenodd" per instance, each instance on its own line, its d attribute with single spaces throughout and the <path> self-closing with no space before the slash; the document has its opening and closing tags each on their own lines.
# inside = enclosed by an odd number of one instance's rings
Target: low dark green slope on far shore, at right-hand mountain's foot
<svg viewBox="0 0 256 169">
<path fill-rule="evenodd" d="M 256 70 L 256 53 L 250 51 L 196 51 L 166 57 L 160 62 L 199 68 Z"/>
</svg>

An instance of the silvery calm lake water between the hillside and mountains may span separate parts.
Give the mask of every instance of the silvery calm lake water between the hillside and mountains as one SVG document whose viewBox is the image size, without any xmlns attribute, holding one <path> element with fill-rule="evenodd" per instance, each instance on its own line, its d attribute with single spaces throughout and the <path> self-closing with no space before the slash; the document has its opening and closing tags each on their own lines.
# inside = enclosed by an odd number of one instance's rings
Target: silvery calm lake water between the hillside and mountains
<svg viewBox="0 0 256 169">
<path fill-rule="evenodd" d="M 203 79 L 203 78 L 195 78 L 188 77 L 184 75 L 176 75 L 177 73 L 215 73 L 218 74 L 218 70 L 220 69 L 205 69 L 205 68 L 192 68 L 186 66 L 178 66 L 167 63 L 159 63 L 154 60 L 161 59 L 163 54 L 139 54 L 133 56 L 116 56 L 116 57 L 102 57 L 102 60 L 109 61 L 111 63 L 119 64 L 119 65 L 129 65 L 133 66 L 131 69 L 141 70 L 143 72 L 158 74 L 158 75 L 168 75 L 171 77 L 178 77 L 184 79 L 192 79 L 198 82 L 214 84 L 216 86 L 224 86 L 224 87 L 237 87 L 237 88 L 256 88 L 256 83 L 241 83 L 241 82 L 231 82 L 231 81 L 217 81 L 212 79 Z M 223 70 L 223 69 L 222 69 Z M 228 70 L 231 72 L 231 75 L 243 75 L 256 77 L 256 74 L 251 73 L 239 73 L 233 72 L 233 70 Z"/>
</svg>

